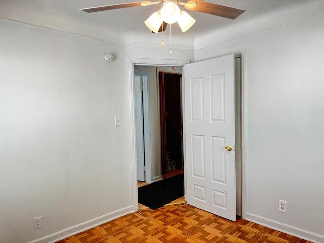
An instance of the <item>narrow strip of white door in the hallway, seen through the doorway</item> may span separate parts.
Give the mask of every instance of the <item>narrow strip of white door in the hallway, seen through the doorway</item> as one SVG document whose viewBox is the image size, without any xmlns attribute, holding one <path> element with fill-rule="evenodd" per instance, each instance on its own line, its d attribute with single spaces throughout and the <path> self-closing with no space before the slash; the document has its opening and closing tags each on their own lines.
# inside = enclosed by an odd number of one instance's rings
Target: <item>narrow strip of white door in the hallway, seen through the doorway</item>
<svg viewBox="0 0 324 243">
<path fill-rule="evenodd" d="M 135 127 L 137 180 L 145 181 L 142 78 L 135 76 Z"/>
</svg>

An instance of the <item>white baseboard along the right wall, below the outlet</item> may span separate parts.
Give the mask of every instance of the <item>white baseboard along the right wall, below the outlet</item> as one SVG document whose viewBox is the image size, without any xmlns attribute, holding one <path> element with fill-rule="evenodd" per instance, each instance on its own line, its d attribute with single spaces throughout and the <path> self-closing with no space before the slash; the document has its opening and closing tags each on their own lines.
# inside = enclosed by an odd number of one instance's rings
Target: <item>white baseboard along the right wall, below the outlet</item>
<svg viewBox="0 0 324 243">
<path fill-rule="evenodd" d="M 297 228 L 295 226 L 292 225 L 288 225 L 288 224 L 284 224 L 272 219 L 268 219 L 256 214 L 252 214 L 247 212 L 246 213 L 246 220 L 249 220 L 251 222 L 254 223 L 258 223 L 261 225 L 264 225 L 266 227 L 269 227 L 271 229 L 275 229 L 287 234 L 291 234 L 294 235 L 296 237 L 308 240 L 308 241 L 312 241 L 314 243 L 322 243 L 324 242 L 324 235 L 320 235 L 320 234 L 316 234 L 314 232 L 310 232 L 308 230 L 304 230 L 301 228 Z"/>
</svg>

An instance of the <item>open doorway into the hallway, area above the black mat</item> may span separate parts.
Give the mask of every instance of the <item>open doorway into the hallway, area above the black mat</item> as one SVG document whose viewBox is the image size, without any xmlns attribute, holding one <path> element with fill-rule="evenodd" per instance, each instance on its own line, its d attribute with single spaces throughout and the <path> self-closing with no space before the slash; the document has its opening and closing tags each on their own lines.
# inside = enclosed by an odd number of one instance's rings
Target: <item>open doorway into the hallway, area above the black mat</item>
<svg viewBox="0 0 324 243">
<path fill-rule="evenodd" d="M 181 76 L 180 66 L 134 66 L 138 187 L 183 174 Z M 139 77 L 146 79 L 146 82 L 142 82 L 142 88 Z M 143 100 L 138 99 L 140 95 Z M 143 110 L 142 115 L 140 110 Z M 144 122 L 138 123 L 137 117 L 143 117 Z M 145 117 L 148 117 L 147 122 Z M 143 129 L 139 129 L 138 124 L 143 124 Z M 139 134 L 141 130 L 143 132 Z M 144 137 L 144 149 L 140 149 L 142 139 L 139 137 Z M 150 148 L 146 146 L 147 143 Z M 144 156 L 140 156 L 143 152 Z M 144 167 L 139 166 L 140 157 L 145 158 Z M 140 168 L 145 168 L 144 180 L 140 177 L 143 174 L 139 173 Z M 181 187 L 181 184 L 177 186 Z"/>
</svg>

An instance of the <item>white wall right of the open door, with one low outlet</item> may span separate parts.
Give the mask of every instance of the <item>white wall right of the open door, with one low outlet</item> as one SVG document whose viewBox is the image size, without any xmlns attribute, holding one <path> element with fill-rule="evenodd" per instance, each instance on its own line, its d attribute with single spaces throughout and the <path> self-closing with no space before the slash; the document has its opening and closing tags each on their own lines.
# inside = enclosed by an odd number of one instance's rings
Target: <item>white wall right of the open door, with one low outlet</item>
<svg viewBox="0 0 324 243">
<path fill-rule="evenodd" d="M 245 50 L 245 217 L 316 242 L 324 242 L 323 29 L 321 14 L 195 51 L 202 60 Z"/>
</svg>

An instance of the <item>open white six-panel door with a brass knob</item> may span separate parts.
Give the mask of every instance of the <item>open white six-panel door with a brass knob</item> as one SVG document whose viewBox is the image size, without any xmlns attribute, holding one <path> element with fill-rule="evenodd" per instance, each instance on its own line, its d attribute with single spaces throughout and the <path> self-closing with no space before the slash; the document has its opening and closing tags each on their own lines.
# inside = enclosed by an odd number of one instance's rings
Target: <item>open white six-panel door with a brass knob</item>
<svg viewBox="0 0 324 243">
<path fill-rule="evenodd" d="M 184 70 L 188 204 L 235 221 L 234 55 Z"/>
</svg>

